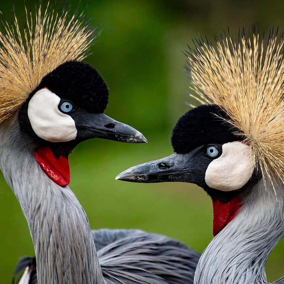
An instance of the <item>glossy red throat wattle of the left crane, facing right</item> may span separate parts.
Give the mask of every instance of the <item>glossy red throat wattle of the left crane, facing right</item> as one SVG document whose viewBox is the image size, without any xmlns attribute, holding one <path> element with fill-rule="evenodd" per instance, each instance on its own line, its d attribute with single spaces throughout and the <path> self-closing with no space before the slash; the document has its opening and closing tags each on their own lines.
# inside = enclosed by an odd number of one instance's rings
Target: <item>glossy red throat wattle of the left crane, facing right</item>
<svg viewBox="0 0 284 284">
<path fill-rule="evenodd" d="M 34 156 L 46 175 L 55 183 L 60 186 L 67 186 L 70 183 L 68 158 L 60 156 L 57 159 L 49 147 L 35 149 Z"/>
</svg>

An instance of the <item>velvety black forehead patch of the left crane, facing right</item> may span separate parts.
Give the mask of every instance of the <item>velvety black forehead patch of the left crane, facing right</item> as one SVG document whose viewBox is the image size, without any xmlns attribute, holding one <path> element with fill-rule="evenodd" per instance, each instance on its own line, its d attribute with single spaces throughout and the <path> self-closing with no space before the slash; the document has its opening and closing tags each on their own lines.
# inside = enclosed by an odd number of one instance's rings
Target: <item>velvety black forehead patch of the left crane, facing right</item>
<svg viewBox="0 0 284 284">
<path fill-rule="evenodd" d="M 35 91 L 44 87 L 90 113 L 102 113 L 108 104 L 109 91 L 104 79 L 95 68 L 81 61 L 59 65 L 41 80 Z"/>
</svg>

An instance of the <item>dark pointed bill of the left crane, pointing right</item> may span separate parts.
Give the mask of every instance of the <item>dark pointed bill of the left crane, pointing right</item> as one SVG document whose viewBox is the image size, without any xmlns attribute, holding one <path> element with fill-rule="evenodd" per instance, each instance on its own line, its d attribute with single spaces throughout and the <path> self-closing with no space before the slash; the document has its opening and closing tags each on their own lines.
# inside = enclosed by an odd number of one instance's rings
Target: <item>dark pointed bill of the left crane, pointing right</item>
<svg viewBox="0 0 284 284">
<path fill-rule="evenodd" d="M 78 125 L 79 124 L 79 125 Z M 88 114 L 76 123 L 79 138 L 103 138 L 126 143 L 147 143 L 142 133 L 103 113 Z"/>
</svg>

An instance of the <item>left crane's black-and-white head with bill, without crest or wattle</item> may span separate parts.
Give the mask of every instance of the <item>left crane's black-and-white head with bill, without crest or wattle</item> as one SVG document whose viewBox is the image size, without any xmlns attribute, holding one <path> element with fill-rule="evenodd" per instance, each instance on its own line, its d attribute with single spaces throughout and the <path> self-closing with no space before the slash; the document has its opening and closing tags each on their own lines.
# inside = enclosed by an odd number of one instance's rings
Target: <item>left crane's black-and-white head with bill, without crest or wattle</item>
<svg viewBox="0 0 284 284">
<path fill-rule="evenodd" d="M 108 97 L 107 85 L 96 69 L 80 61 L 66 62 L 46 75 L 22 105 L 21 129 L 39 145 L 57 149 L 58 143 L 65 143 L 60 144 L 64 152 L 59 153 L 65 155 L 89 138 L 146 142 L 134 128 L 103 114 Z"/>
</svg>

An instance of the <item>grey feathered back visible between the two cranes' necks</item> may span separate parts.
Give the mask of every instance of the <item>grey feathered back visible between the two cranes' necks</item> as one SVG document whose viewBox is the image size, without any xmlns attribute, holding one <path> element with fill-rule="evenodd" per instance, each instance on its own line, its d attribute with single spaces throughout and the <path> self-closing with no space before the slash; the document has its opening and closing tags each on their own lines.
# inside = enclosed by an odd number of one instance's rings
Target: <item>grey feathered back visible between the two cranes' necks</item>
<svg viewBox="0 0 284 284">
<path fill-rule="evenodd" d="M 141 230 L 92 233 L 106 283 L 193 283 L 200 255 L 178 241 Z"/>
</svg>

